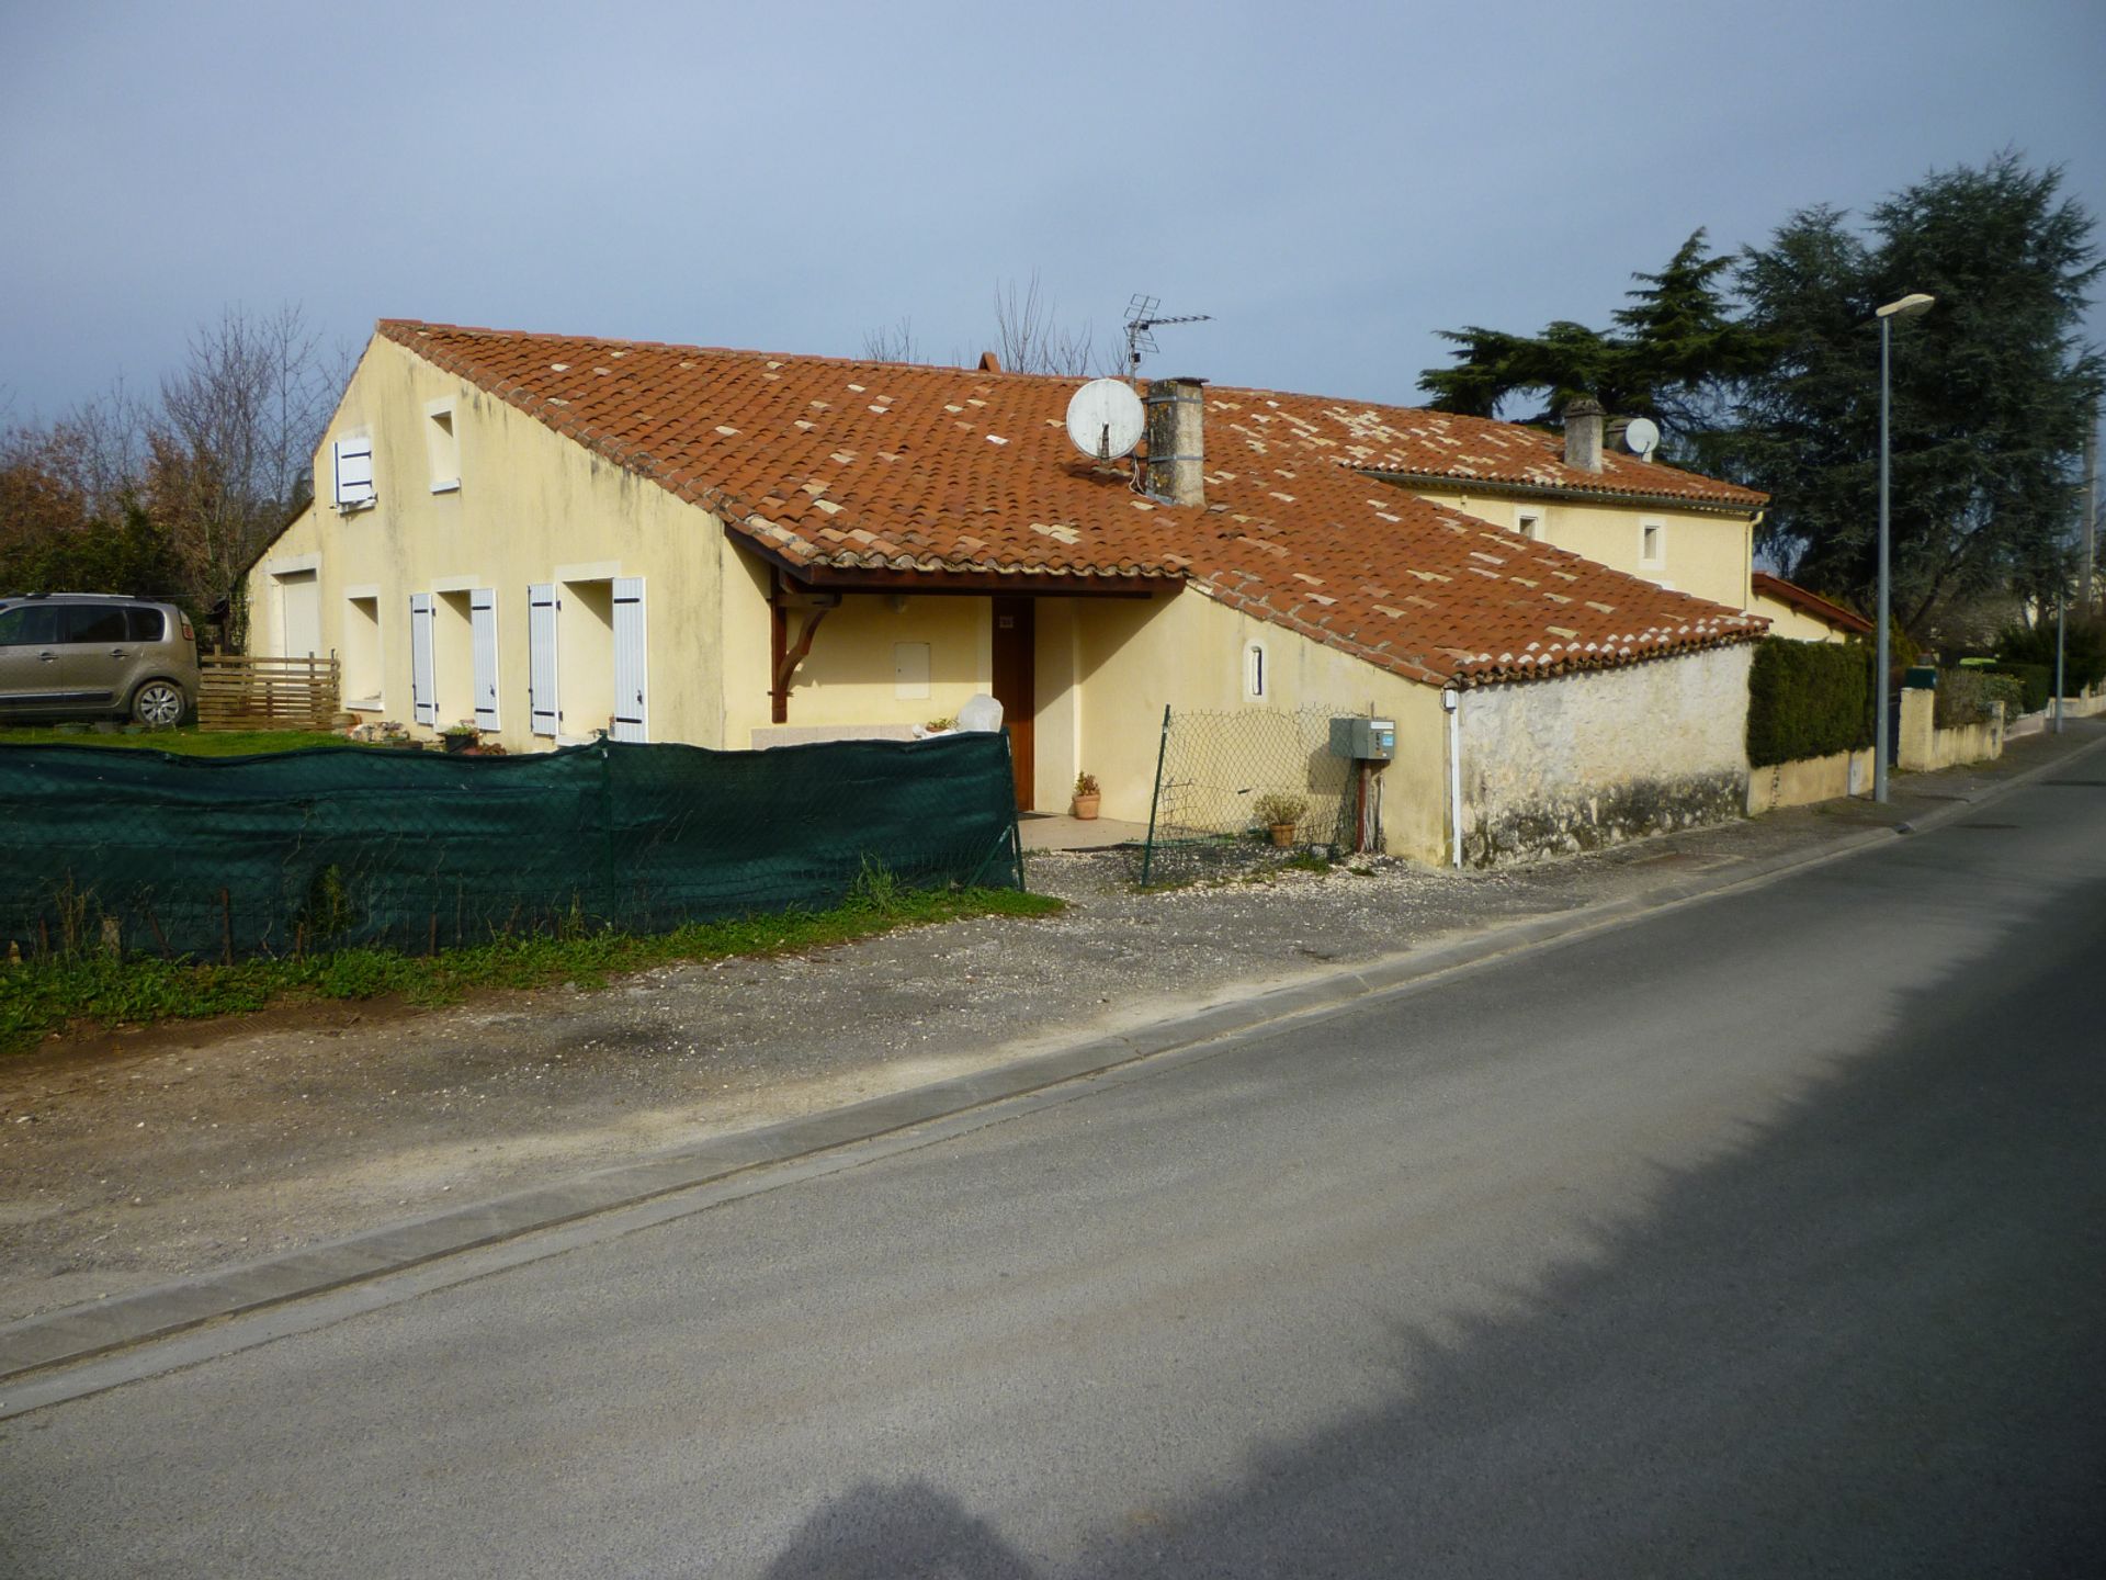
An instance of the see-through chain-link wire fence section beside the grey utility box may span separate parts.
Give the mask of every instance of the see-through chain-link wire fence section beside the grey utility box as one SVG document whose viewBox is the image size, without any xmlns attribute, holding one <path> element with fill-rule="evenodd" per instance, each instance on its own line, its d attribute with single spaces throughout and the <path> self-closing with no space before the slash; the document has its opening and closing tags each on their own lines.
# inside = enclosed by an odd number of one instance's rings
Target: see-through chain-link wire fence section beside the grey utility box
<svg viewBox="0 0 2106 1580">
<path fill-rule="evenodd" d="M 1331 708 L 1165 708 L 1154 813 L 1146 845 L 1129 862 L 1131 876 L 1192 883 L 1312 845 L 1354 849 L 1367 809 L 1352 763 L 1331 752 L 1333 716 Z M 1274 822 L 1293 826 L 1287 849 L 1272 841 Z"/>
</svg>

